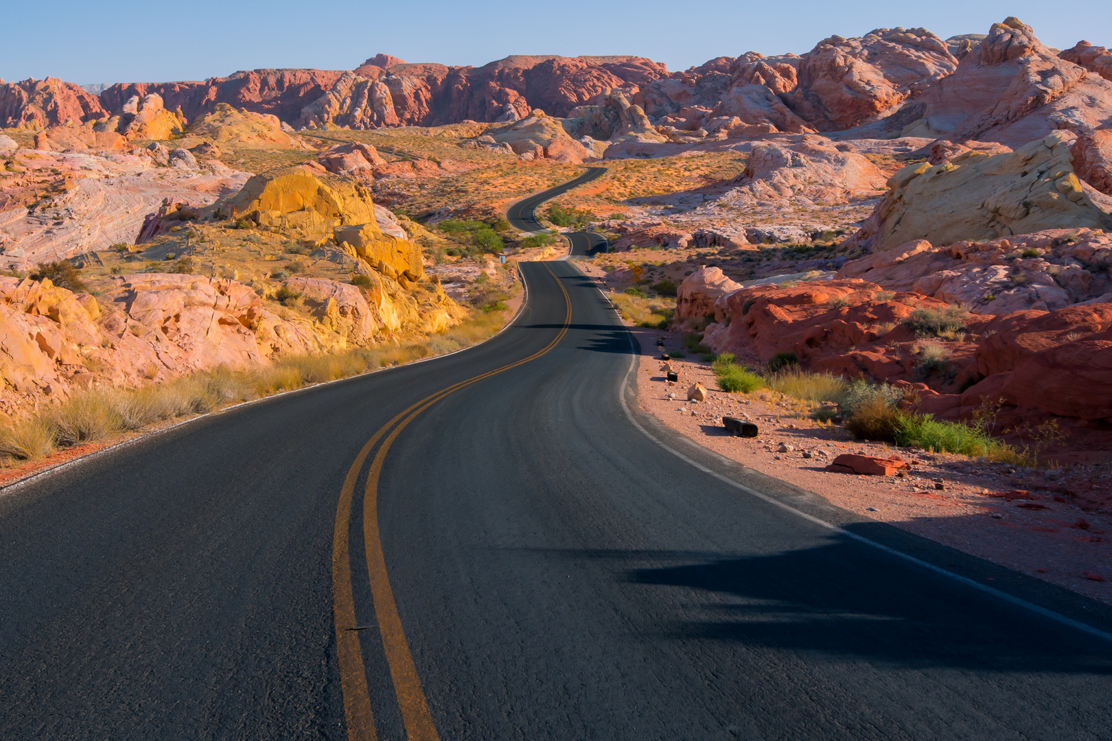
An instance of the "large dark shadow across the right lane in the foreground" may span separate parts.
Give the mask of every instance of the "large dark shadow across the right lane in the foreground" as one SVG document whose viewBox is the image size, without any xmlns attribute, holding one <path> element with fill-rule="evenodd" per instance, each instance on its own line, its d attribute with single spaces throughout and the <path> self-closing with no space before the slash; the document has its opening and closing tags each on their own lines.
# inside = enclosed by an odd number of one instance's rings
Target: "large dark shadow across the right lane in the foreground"
<svg viewBox="0 0 1112 741">
<path fill-rule="evenodd" d="M 1033 613 L 897 562 L 840 537 L 771 555 L 692 551 L 558 551 L 624 565 L 617 580 L 649 588 L 661 635 L 866 659 L 893 667 L 1112 675 L 1112 649 Z M 656 590 L 671 593 L 655 593 Z"/>
</svg>

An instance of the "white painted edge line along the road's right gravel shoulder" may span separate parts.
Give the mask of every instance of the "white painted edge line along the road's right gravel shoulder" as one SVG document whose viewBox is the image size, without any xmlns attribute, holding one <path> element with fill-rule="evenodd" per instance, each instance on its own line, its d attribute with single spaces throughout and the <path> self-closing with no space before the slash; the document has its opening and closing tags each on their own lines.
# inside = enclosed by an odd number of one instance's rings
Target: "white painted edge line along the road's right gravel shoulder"
<svg viewBox="0 0 1112 741">
<path fill-rule="evenodd" d="M 575 263 L 573 262 L 572 264 L 574 266 Z M 598 292 L 603 296 L 604 299 L 606 298 L 606 293 L 604 293 L 600 288 L 596 287 L 596 290 L 598 290 Z M 825 520 L 816 518 L 816 517 L 814 517 L 812 514 L 807 514 L 806 512 L 803 512 L 801 510 L 795 509 L 791 504 L 785 504 L 784 502 L 780 501 L 778 499 L 776 499 L 774 497 L 770 497 L 767 494 L 763 494 L 759 491 L 756 491 L 755 489 L 749 489 L 745 484 L 739 483 L 737 481 L 734 481 L 729 477 L 723 475 L 723 474 L 718 473 L 717 471 L 714 471 L 714 470 L 712 470 L 712 469 L 703 465 L 698 461 L 695 461 L 692 458 L 688 458 L 684 453 L 679 452 L 675 448 L 672 448 L 669 444 L 667 444 L 663 440 L 659 440 L 658 438 L 656 438 L 655 435 L 653 435 L 652 432 L 649 432 L 644 427 L 642 427 L 641 422 L 638 422 L 637 419 L 633 415 L 633 412 L 629 411 L 629 405 L 626 403 L 626 400 L 625 400 L 625 390 L 626 390 L 626 387 L 629 385 L 629 379 L 631 379 L 631 377 L 636 377 L 637 361 L 639 360 L 641 356 L 637 352 L 636 346 L 634 344 L 633 332 L 631 332 L 629 328 L 625 326 L 625 322 L 622 323 L 622 328 L 625 329 L 625 331 L 626 331 L 626 339 L 629 341 L 629 351 L 631 351 L 631 356 L 632 356 L 631 359 L 629 359 L 629 370 L 626 371 L 626 375 L 622 380 L 622 383 L 618 387 L 618 401 L 622 402 L 622 409 L 625 412 L 626 418 L 631 422 L 633 422 L 633 425 L 635 428 L 637 428 L 638 430 L 641 430 L 641 432 L 646 438 L 648 438 L 649 440 L 652 440 L 653 442 L 655 442 L 656 444 L 658 444 L 661 448 L 664 448 L 666 451 L 668 451 L 669 453 L 672 453 L 673 455 L 675 455 L 679 460 L 682 460 L 682 461 L 684 461 L 684 462 L 686 462 L 686 463 L 688 463 L 688 464 L 697 468 L 699 471 L 703 471 L 704 473 L 708 473 L 709 475 L 712 475 L 715 479 L 722 481 L 723 483 L 729 484 L 731 487 L 734 487 L 735 489 L 738 489 L 739 491 L 743 491 L 746 494 L 749 494 L 751 497 L 756 497 L 757 499 L 759 499 L 762 501 L 765 501 L 765 502 L 767 502 L 770 504 L 775 504 L 776 507 L 778 507 L 778 508 L 781 508 L 783 510 L 786 510 L 786 511 L 791 512 L 792 514 L 798 515 L 798 517 L 803 518 L 804 520 L 807 520 L 808 522 L 812 522 L 812 523 L 817 524 L 820 527 L 826 528 L 828 530 L 833 530 L 834 532 L 838 533 L 840 535 L 844 535 L 846 538 L 850 538 L 851 540 L 855 540 L 858 543 L 862 543 L 862 544 L 865 544 L 865 545 L 871 545 L 872 548 L 875 548 L 875 549 L 877 549 L 880 551 L 883 551 L 883 552 L 885 552 L 885 553 L 887 553 L 890 555 L 895 555 L 896 558 L 903 559 L 903 560 L 905 560 L 905 561 L 907 561 L 910 563 L 914 563 L 915 565 L 921 567 L 923 569 L 926 569 L 927 571 L 932 571 L 932 572 L 934 572 L 936 574 L 941 574 L 943 577 L 949 577 L 950 579 L 953 579 L 956 582 L 965 584 L 966 587 L 972 587 L 973 589 L 980 590 L 980 591 L 982 591 L 982 592 L 984 592 L 986 594 L 991 594 L 991 595 L 993 595 L 993 597 L 995 597 L 997 599 L 1001 599 L 1001 600 L 1003 600 L 1005 602 L 1014 604 L 1014 605 L 1016 605 L 1019 608 L 1023 608 L 1024 610 L 1027 610 L 1030 612 L 1034 612 L 1035 614 L 1041 615 L 1043 618 L 1049 618 L 1050 620 L 1054 620 L 1054 621 L 1060 622 L 1062 624 L 1069 625 L 1070 628 L 1075 628 L 1076 630 L 1080 630 L 1082 632 L 1089 633 L 1090 635 L 1094 635 L 1096 638 L 1101 638 L 1101 639 L 1103 639 L 1105 641 L 1112 642 L 1112 633 L 1105 632 L 1105 631 L 1103 631 L 1103 630 L 1101 630 L 1099 628 L 1093 628 L 1092 625 L 1083 623 L 1083 622 L 1081 622 L 1079 620 L 1074 620 L 1073 618 L 1068 618 L 1068 617 L 1065 617 L 1063 614 L 1054 612 L 1053 610 L 1048 610 L 1046 608 L 1040 607 L 1040 605 L 1035 604 L 1034 602 L 1029 602 L 1029 601 L 1026 601 L 1024 599 L 1021 599 L 1019 597 L 1014 597 L 1012 594 L 1009 594 L 1007 592 L 1003 592 L 1003 591 L 1001 591 L 999 589 L 995 589 L 993 587 L 989 587 L 986 584 L 982 584 L 979 581 L 973 581 L 972 579 L 967 579 L 965 577 L 962 577 L 960 574 L 953 573 L 951 571 L 946 571 L 945 569 L 943 569 L 941 567 L 936 567 L 933 563 L 929 563 L 927 561 L 924 561 L 922 559 L 917 559 L 914 555 L 910 555 L 907 553 L 904 553 L 903 551 L 898 551 L 898 550 L 896 550 L 894 548 L 891 548 L 888 545 L 885 545 L 883 543 L 878 543 L 875 540 L 870 540 L 868 538 L 863 538 L 862 535 L 858 535 L 858 534 L 856 534 L 854 532 L 850 532 L 848 530 L 845 530 L 844 528 L 840 528 L 836 524 L 832 524 L 832 523 L 826 522 Z"/>
</svg>

